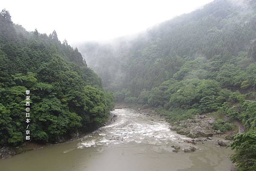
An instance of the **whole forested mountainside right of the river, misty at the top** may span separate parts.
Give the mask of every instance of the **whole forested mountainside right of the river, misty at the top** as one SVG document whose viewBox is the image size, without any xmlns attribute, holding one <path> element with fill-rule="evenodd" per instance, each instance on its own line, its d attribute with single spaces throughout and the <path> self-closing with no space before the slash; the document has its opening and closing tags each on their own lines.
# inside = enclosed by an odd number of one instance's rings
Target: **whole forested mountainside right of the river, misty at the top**
<svg viewBox="0 0 256 171">
<path fill-rule="evenodd" d="M 133 37 L 79 49 L 117 102 L 154 107 L 169 122 L 202 113 L 239 120 L 231 157 L 256 170 L 256 1 L 215 0 Z"/>
</svg>

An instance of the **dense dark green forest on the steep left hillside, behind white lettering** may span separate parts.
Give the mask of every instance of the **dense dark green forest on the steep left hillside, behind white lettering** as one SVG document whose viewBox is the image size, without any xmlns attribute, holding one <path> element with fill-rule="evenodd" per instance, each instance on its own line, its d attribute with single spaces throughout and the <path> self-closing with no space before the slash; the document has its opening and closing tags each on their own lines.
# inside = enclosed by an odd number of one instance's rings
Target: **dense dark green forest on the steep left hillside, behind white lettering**
<svg viewBox="0 0 256 171">
<path fill-rule="evenodd" d="M 50 35 L 27 32 L 0 12 L 0 146 L 25 142 L 25 91 L 30 90 L 33 142 L 60 142 L 95 129 L 113 109 L 113 95 L 77 48 Z M 26 95 L 28 96 L 28 95 Z"/>
</svg>

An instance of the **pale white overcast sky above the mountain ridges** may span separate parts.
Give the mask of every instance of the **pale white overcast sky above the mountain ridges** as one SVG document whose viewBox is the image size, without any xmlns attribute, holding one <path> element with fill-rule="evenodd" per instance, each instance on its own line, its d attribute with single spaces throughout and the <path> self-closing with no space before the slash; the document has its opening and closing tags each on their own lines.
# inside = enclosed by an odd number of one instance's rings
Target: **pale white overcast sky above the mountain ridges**
<svg viewBox="0 0 256 171">
<path fill-rule="evenodd" d="M 69 43 L 105 41 L 141 32 L 212 0 L 4 0 L 14 23 L 41 33 L 54 29 Z"/>
</svg>

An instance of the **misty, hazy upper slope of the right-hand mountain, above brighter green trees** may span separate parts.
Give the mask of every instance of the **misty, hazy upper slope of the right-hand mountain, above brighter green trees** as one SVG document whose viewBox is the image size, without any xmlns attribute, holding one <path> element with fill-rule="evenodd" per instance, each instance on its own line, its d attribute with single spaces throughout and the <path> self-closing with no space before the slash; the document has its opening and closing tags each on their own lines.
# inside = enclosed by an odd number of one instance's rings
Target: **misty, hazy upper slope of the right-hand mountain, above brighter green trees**
<svg viewBox="0 0 256 171">
<path fill-rule="evenodd" d="M 215 0 L 133 38 L 78 47 L 105 87 L 127 88 L 138 96 L 143 89 L 172 78 L 187 61 L 201 57 L 207 62 L 215 55 L 228 58 L 248 53 L 256 38 L 255 19 L 254 1 Z"/>
</svg>

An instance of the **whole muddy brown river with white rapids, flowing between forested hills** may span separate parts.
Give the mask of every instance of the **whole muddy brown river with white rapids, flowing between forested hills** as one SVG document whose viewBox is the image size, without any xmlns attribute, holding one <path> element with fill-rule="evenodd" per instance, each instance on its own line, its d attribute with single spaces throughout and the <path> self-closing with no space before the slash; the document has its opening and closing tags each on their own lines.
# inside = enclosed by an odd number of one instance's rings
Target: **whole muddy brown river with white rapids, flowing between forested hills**
<svg viewBox="0 0 256 171">
<path fill-rule="evenodd" d="M 215 141 L 184 153 L 186 136 L 157 116 L 130 109 L 113 111 L 116 122 L 83 138 L 0 160 L 0 171 L 230 171 L 228 148 Z M 179 145 L 180 152 L 172 152 Z"/>
</svg>

